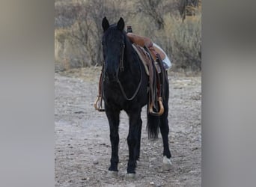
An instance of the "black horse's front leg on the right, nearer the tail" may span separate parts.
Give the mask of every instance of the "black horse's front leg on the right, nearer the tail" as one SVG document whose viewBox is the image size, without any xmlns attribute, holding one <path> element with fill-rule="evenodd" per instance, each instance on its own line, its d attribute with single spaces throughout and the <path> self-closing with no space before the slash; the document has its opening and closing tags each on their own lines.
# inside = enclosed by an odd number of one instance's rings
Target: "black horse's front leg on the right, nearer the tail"
<svg viewBox="0 0 256 187">
<path fill-rule="evenodd" d="M 141 110 L 129 113 L 129 134 L 127 137 L 127 143 L 129 147 L 129 160 L 127 165 L 127 177 L 135 177 L 136 159 L 139 156 L 141 131 Z"/>
</svg>

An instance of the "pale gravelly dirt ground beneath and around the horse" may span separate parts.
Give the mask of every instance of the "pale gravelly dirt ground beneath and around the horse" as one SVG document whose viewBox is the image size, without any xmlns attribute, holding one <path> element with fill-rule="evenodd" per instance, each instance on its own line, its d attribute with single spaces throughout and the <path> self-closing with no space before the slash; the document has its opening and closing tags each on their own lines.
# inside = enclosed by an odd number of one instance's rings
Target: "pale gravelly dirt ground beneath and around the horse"
<svg viewBox="0 0 256 187">
<path fill-rule="evenodd" d="M 137 178 L 127 179 L 128 117 L 121 112 L 119 174 L 109 177 L 109 124 L 95 111 L 100 67 L 55 73 L 55 186 L 201 186 L 201 76 L 169 76 L 170 171 L 162 171 L 162 138 L 149 141 L 141 112 Z"/>
</svg>

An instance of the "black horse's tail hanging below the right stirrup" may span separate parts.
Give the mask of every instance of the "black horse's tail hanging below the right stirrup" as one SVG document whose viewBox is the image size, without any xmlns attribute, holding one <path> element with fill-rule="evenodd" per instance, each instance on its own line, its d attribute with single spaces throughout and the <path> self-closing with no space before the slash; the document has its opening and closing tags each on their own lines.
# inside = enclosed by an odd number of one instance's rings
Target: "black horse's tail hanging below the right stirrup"
<svg viewBox="0 0 256 187">
<path fill-rule="evenodd" d="M 148 112 L 149 105 L 147 104 L 147 135 L 150 140 L 156 141 L 159 132 L 159 116 L 153 116 Z"/>
</svg>

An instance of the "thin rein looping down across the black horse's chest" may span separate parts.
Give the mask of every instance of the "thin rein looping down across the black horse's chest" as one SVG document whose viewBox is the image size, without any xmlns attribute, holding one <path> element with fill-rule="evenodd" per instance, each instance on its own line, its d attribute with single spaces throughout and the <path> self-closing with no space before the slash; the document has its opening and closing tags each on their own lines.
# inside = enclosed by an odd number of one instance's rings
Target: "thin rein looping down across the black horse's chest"
<svg viewBox="0 0 256 187">
<path fill-rule="evenodd" d="M 124 71 L 124 48 L 125 48 L 125 45 L 122 46 L 121 58 L 120 58 L 120 69 L 121 69 L 122 72 Z M 136 57 L 137 57 L 137 60 L 138 60 L 138 55 L 137 55 L 137 54 L 136 54 Z M 130 100 L 134 99 L 134 97 L 135 97 L 135 96 L 137 95 L 137 93 L 138 93 L 138 89 L 141 87 L 141 82 L 142 82 L 142 70 L 141 70 L 141 64 L 139 64 L 139 60 L 138 60 L 138 66 L 139 66 L 139 70 L 140 70 L 140 73 L 141 73 L 141 78 L 140 78 L 140 80 L 139 80 L 138 87 L 137 87 L 137 89 L 135 90 L 135 93 L 133 93 L 133 95 L 132 95 L 130 98 L 128 98 L 128 97 L 127 97 L 127 94 L 124 92 L 124 88 L 123 88 L 123 86 L 122 86 L 120 80 L 118 79 L 118 75 L 117 75 L 117 82 L 118 82 L 118 85 L 119 85 L 119 87 L 120 87 L 120 89 L 121 89 L 121 92 L 122 92 L 124 98 L 127 99 L 127 101 L 130 101 Z M 119 70 L 118 70 L 118 72 L 119 72 Z"/>
</svg>

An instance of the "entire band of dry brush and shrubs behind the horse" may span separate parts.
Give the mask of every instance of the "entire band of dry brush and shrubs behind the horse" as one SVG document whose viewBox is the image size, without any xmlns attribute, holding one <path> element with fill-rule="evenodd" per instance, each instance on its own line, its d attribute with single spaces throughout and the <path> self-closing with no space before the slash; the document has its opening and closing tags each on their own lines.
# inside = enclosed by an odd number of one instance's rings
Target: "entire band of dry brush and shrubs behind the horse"
<svg viewBox="0 0 256 187">
<path fill-rule="evenodd" d="M 55 70 L 103 64 L 101 22 L 122 16 L 171 59 L 171 70 L 201 71 L 201 1 L 55 0 Z"/>
</svg>

